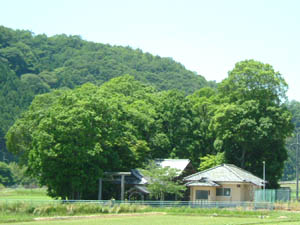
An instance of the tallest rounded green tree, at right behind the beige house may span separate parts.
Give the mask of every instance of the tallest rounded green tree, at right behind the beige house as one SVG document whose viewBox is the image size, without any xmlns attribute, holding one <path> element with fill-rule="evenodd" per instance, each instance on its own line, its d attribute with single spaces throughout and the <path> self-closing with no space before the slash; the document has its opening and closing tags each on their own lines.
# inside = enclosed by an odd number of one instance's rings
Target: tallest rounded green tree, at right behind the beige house
<svg viewBox="0 0 300 225">
<path fill-rule="evenodd" d="M 221 104 L 211 129 L 227 162 L 262 176 L 277 187 L 287 159 L 285 140 L 293 131 L 284 103 L 287 84 L 269 64 L 246 60 L 236 64 L 219 86 Z"/>
</svg>

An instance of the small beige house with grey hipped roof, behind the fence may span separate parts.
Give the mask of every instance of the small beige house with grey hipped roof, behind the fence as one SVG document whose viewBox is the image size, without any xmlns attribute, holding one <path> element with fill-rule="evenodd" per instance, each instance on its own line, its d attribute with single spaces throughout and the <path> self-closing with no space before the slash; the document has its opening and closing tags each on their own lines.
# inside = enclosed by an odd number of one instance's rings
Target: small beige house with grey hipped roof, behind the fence
<svg viewBox="0 0 300 225">
<path fill-rule="evenodd" d="M 190 200 L 253 201 L 264 181 L 232 164 L 222 164 L 184 178 Z"/>
</svg>

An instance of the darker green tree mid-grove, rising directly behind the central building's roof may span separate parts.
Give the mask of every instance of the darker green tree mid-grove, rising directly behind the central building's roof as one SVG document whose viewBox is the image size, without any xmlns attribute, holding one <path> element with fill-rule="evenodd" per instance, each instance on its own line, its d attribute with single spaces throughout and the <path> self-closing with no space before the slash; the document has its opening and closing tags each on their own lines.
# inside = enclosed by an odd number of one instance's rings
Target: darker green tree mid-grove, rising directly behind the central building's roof
<svg viewBox="0 0 300 225">
<path fill-rule="evenodd" d="M 184 93 L 171 90 L 156 95 L 155 135 L 150 139 L 153 158 L 189 158 L 191 110 Z"/>
</svg>

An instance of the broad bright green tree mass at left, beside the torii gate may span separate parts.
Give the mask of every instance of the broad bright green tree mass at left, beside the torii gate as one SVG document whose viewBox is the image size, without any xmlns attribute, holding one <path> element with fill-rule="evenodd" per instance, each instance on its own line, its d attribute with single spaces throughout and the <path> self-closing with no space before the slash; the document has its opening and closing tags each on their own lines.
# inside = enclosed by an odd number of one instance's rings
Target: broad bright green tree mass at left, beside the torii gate
<svg viewBox="0 0 300 225">
<path fill-rule="evenodd" d="M 7 133 L 8 149 L 23 157 L 49 195 L 95 198 L 104 171 L 129 170 L 147 159 L 141 131 L 154 121 L 142 96 L 152 91 L 124 76 L 101 88 L 86 84 L 37 96 Z"/>
</svg>

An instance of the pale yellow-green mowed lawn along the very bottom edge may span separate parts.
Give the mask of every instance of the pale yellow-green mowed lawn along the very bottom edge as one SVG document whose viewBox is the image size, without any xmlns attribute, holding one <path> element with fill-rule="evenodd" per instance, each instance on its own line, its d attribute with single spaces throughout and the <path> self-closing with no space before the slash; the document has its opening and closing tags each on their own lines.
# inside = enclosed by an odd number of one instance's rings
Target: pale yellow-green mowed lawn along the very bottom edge
<svg viewBox="0 0 300 225">
<path fill-rule="evenodd" d="M 97 218 L 49 220 L 23 223 L 18 225 L 299 225 L 300 221 L 292 218 L 237 218 L 237 217 L 207 217 L 191 215 L 106 215 Z"/>
</svg>

